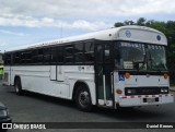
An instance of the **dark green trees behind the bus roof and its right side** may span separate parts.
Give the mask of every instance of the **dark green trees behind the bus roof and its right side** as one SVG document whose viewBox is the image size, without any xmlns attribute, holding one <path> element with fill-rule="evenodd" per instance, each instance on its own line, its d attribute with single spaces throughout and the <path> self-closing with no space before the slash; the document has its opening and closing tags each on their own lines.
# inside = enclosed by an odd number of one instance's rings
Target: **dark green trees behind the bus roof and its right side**
<svg viewBox="0 0 175 132">
<path fill-rule="evenodd" d="M 166 48 L 167 67 L 170 70 L 171 83 L 175 84 L 175 21 L 147 21 L 144 17 L 140 17 L 136 22 L 127 20 L 124 23 L 120 22 L 114 24 L 115 27 L 124 25 L 148 26 L 165 34 L 168 43 Z"/>
</svg>

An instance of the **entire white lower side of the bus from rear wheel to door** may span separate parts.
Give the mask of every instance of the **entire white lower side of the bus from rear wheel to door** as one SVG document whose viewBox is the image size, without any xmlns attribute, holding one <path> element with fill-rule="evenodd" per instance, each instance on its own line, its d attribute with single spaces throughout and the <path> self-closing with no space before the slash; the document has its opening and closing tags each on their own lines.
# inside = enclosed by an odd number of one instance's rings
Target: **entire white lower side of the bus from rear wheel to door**
<svg viewBox="0 0 175 132">
<path fill-rule="evenodd" d="M 83 70 L 82 70 L 83 68 Z M 35 93 L 40 93 L 49 96 L 72 99 L 72 92 L 75 82 L 84 82 L 91 93 L 92 104 L 96 104 L 94 69 L 91 65 L 62 65 L 63 80 L 50 80 L 50 65 L 25 65 L 13 67 L 11 79 L 14 82 L 14 76 L 21 77 L 22 88 Z M 9 69 L 10 70 L 10 69 Z M 57 71 L 59 74 L 59 71 Z M 58 76 L 58 75 L 57 75 Z"/>
</svg>

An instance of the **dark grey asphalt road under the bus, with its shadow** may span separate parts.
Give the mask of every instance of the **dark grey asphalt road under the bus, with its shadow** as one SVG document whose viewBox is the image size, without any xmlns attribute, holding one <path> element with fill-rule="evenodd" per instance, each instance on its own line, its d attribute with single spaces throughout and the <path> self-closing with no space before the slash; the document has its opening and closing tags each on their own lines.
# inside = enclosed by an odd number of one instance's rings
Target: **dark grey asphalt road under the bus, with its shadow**
<svg viewBox="0 0 175 132">
<path fill-rule="evenodd" d="M 172 92 L 175 95 L 175 92 Z M 11 86 L 0 86 L 0 101 L 10 110 L 13 122 L 175 122 L 175 103 L 126 110 L 96 108 L 93 112 L 79 111 L 70 100 L 25 93 L 18 96 Z M 174 129 L 175 130 L 175 129 Z M 174 131 L 166 129 L 117 129 L 129 132 Z M 10 130 L 9 132 L 103 132 L 115 129 L 49 129 Z"/>
</svg>

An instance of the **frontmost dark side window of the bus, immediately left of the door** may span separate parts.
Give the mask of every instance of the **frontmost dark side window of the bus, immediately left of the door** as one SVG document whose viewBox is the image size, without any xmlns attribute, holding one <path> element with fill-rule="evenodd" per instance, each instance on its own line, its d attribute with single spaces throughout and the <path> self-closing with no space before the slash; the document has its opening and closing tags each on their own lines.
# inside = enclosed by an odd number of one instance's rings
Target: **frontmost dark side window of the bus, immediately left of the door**
<svg viewBox="0 0 175 132">
<path fill-rule="evenodd" d="M 94 62 L 94 44 L 93 43 L 86 43 L 84 47 L 84 56 L 85 56 L 85 63 L 92 63 Z"/>
</svg>

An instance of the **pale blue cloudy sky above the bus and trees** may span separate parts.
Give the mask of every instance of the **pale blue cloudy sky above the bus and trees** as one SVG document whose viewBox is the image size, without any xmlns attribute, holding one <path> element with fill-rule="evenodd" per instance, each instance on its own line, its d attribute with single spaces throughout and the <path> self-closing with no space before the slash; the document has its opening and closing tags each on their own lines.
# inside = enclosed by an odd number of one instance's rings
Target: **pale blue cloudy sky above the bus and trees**
<svg viewBox="0 0 175 132">
<path fill-rule="evenodd" d="M 116 22 L 175 21 L 174 0 L 0 0 L 0 52 L 112 28 Z"/>
</svg>

